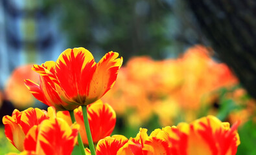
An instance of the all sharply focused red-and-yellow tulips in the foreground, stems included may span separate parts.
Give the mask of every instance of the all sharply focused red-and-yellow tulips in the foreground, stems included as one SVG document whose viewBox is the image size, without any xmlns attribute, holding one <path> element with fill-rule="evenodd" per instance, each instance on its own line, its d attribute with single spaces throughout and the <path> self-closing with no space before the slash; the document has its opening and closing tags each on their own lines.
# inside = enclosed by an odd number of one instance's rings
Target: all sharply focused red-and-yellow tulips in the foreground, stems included
<svg viewBox="0 0 256 155">
<path fill-rule="evenodd" d="M 71 154 L 77 143 L 82 154 L 92 155 L 236 154 L 240 144 L 237 133 L 239 123 L 230 128 L 229 123 L 222 123 L 215 116 L 196 119 L 192 123 L 179 123 L 177 127 L 156 129 L 149 136 L 147 129 L 140 129 L 137 136 L 130 139 L 122 135 L 110 136 L 115 127 L 116 114 L 100 98 L 117 79 L 122 65 L 122 57 L 118 56 L 116 52 L 108 52 L 99 63 L 95 63 L 88 50 L 73 48 L 65 50 L 56 62 L 33 65 L 32 70 L 40 74 L 40 84 L 26 79 L 25 85 L 35 98 L 49 105 L 48 111 L 39 108 L 21 112 L 14 110 L 12 116 L 3 118 L 6 138 L 21 154 L 27 155 Z M 154 84 L 148 81 L 146 87 Z M 128 87 L 131 95 L 139 93 L 132 87 L 136 88 L 135 85 Z M 148 90 L 156 95 L 167 91 Z M 144 103 L 143 99 L 139 101 Z M 134 104 L 133 101 L 131 104 Z M 84 145 L 89 145 L 89 149 L 84 149 Z M 94 145 L 97 145 L 96 150 Z M 12 154 L 15 153 L 9 155 Z"/>
</svg>

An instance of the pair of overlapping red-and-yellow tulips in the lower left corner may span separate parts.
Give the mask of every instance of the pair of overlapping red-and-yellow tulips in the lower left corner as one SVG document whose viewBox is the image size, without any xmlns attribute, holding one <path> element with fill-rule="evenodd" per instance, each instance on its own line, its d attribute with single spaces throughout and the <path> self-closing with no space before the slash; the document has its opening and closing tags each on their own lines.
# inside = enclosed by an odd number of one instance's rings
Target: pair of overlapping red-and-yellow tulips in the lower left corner
<svg viewBox="0 0 256 155">
<path fill-rule="evenodd" d="M 24 154 L 71 154 L 79 127 L 69 126 L 55 115 L 52 107 L 48 112 L 39 108 L 14 110 L 12 116 L 3 118 L 6 138 Z"/>
</svg>

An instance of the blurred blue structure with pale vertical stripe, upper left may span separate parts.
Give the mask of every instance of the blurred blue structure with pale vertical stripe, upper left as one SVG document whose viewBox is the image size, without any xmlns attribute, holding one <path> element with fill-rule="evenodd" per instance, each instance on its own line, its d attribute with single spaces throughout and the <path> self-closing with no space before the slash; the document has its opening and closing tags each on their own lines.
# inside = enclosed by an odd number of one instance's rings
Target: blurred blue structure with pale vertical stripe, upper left
<svg viewBox="0 0 256 155">
<path fill-rule="evenodd" d="M 1 0 L 0 89 L 17 66 L 56 60 L 64 43 L 58 14 L 49 16 L 43 1 Z"/>
</svg>

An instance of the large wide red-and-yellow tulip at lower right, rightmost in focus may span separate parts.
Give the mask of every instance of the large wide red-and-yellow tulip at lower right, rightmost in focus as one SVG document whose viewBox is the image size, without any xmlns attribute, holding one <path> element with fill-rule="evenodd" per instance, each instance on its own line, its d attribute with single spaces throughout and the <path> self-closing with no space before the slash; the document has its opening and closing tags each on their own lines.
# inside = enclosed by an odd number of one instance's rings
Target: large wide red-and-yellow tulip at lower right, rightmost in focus
<svg viewBox="0 0 256 155">
<path fill-rule="evenodd" d="M 215 116 L 180 123 L 177 127 L 156 129 L 150 137 L 167 141 L 170 154 L 236 154 L 240 144 L 238 123 L 229 127 Z"/>
</svg>

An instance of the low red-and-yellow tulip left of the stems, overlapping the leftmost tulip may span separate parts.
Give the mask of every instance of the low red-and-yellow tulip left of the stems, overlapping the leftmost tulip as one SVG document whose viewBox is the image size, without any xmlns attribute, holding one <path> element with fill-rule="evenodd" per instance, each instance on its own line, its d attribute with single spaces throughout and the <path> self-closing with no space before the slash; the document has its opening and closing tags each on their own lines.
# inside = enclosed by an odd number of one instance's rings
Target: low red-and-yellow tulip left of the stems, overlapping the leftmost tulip
<svg viewBox="0 0 256 155">
<path fill-rule="evenodd" d="M 70 127 L 62 118 L 47 119 L 29 130 L 25 150 L 20 155 L 70 155 L 77 141 L 78 129 L 78 124 Z"/>
</svg>

